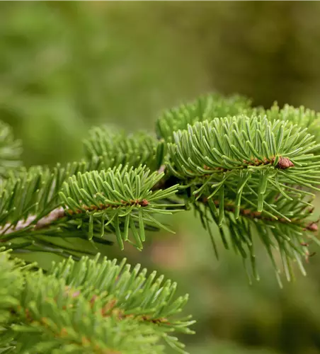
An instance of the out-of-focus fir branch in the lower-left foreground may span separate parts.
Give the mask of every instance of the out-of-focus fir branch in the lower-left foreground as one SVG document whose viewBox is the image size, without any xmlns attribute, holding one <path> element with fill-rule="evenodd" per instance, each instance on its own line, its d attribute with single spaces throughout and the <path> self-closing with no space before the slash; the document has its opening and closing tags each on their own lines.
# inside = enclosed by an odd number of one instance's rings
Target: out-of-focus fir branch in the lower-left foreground
<svg viewBox="0 0 320 354">
<path fill-rule="evenodd" d="M 6 253 L 0 253 L 1 264 L 12 267 L 1 254 Z M 161 285 L 162 276 L 147 277 L 139 265 L 130 272 L 125 261 L 117 265 L 98 258 L 54 264 L 47 275 L 16 269 L 20 285 L 1 317 L 6 348 L 16 353 L 163 353 L 162 341 L 185 353 L 172 332 L 193 333 L 188 329 L 193 321 L 176 319 L 188 296 L 174 299 L 176 283 Z"/>
</svg>

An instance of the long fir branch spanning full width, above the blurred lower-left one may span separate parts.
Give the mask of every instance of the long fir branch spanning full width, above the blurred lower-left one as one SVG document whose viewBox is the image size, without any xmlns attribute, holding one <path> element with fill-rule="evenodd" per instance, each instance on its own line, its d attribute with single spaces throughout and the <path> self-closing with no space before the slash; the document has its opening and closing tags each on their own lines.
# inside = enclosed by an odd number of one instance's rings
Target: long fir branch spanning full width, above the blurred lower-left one
<svg viewBox="0 0 320 354">
<path fill-rule="evenodd" d="M 214 94 L 166 111 L 157 137 L 93 128 L 84 161 L 10 172 L 1 184 L 2 244 L 79 256 L 61 239 L 112 244 L 115 235 L 121 248 L 142 249 L 146 230 L 168 230 L 157 215 L 191 208 L 216 253 L 215 224 L 224 246 L 251 260 L 256 278 L 257 238 L 277 274 L 279 251 L 291 278 L 292 260 L 304 272 L 307 245 L 318 242 L 319 118 L 302 107 L 264 110 Z"/>
</svg>

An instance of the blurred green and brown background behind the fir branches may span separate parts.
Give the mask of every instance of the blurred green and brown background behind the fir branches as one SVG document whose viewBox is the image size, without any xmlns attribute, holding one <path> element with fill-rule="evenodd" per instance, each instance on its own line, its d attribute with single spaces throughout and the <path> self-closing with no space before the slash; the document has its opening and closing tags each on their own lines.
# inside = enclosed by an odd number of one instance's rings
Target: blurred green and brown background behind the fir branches
<svg viewBox="0 0 320 354">
<path fill-rule="evenodd" d="M 320 1 L 2 1 L 0 119 L 30 166 L 80 159 L 92 125 L 152 130 L 161 110 L 208 91 L 320 110 L 319 15 Z M 248 285 L 193 215 L 168 222 L 176 235 L 149 234 L 142 253 L 103 252 L 190 293 L 191 354 L 320 353 L 319 256 L 280 290 L 258 250 L 261 282 Z"/>
</svg>

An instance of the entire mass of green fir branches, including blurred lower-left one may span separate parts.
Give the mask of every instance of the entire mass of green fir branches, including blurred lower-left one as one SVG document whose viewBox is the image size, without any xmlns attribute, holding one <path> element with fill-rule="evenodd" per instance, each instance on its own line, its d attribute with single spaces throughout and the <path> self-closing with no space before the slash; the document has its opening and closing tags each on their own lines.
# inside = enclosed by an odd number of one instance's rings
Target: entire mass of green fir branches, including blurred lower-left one
<svg viewBox="0 0 320 354">
<path fill-rule="evenodd" d="M 309 244 L 320 244 L 319 122 L 302 107 L 213 94 L 163 113 L 155 136 L 95 127 L 84 159 L 54 169 L 20 167 L 20 144 L 1 125 L 2 352 L 186 353 L 172 334 L 193 322 L 178 316 L 187 297 L 176 284 L 92 258 L 97 244 L 142 250 L 146 232 L 171 231 L 159 215 L 194 210 L 217 256 L 220 238 L 256 279 L 257 239 L 279 282 L 275 254 L 288 280 L 293 263 L 305 273 Z M 71 258 L 44 271 L 13 257 L 35 251 Z"/>
</svg>

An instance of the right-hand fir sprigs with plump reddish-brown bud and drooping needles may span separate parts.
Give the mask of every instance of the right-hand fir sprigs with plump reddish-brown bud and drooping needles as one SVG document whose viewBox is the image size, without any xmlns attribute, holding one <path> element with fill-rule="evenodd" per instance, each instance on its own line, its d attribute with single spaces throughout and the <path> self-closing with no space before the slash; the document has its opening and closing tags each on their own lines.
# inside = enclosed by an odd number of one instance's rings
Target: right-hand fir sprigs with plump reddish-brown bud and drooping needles
<svg viewBox="0 0 320 354">
<path fill-rule="evenodd" d="M 314 198 L 309 190 L 319 190 L 319 115 L 274 105 L 271 110 L 246 108 L 246 115 L 219 118 L 207 104 L 201 106 L 203 102 L 183 105 L 171 111 L 176 115 L 168 118 L 168 113 L 157 122 L 168 141 L 165 182 L 173 179 L 184 185 L 179 195 L 195 208 L 216 253 L 212 222 L 226 248 L 230 243 L 243 258 L 250 256 L 258 278 L 253 228 L 262 235 L 277 275 L 273 249 L 280 251 L 289 280 L 292 259 L 305 273 L 301 257 L 309 256 L 308 240 L 319 243 L 314 235 L 317 222 L 309 219 Z M 311 200 L 306 201 L 308 196 Z"/>
</svg>

